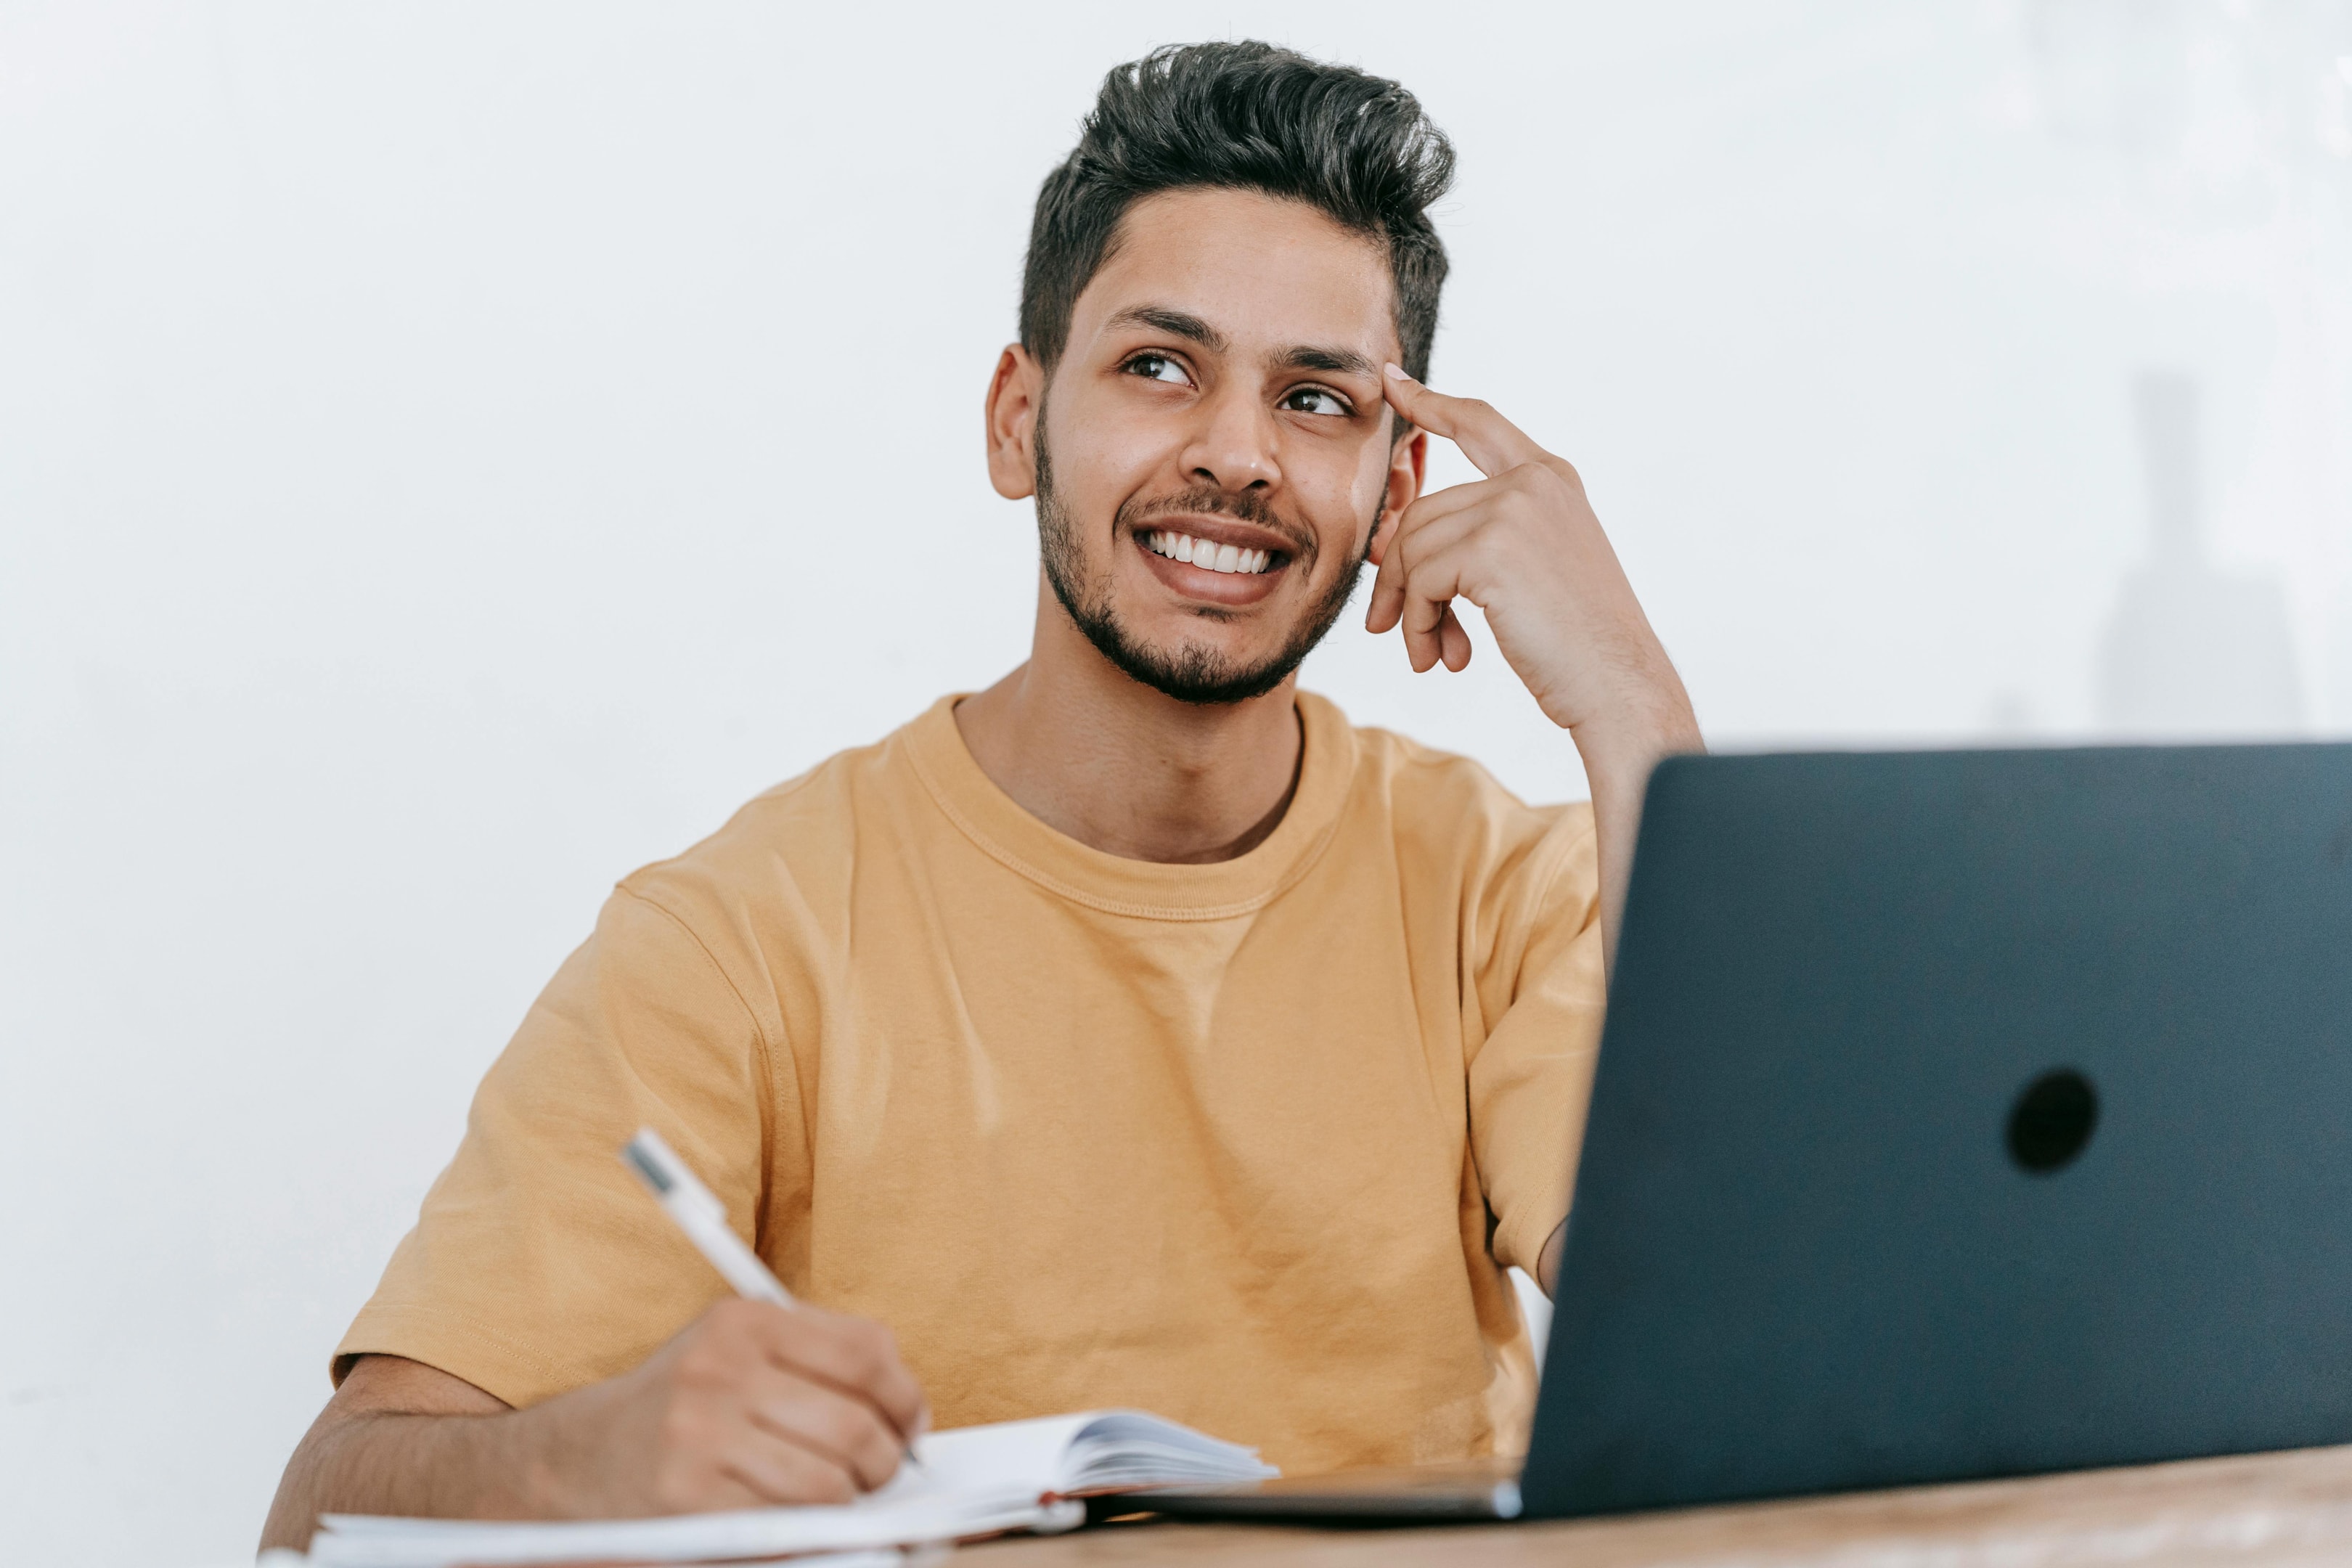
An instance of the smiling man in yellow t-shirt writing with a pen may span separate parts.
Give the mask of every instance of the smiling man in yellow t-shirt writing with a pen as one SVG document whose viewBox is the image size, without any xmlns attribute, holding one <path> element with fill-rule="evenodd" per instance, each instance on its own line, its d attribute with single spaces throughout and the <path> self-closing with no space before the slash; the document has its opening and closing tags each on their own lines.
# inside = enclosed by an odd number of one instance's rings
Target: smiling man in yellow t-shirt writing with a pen
<svg viewBox="0 0 2352 1568">
<path fill-rule="evenodd" d="M 1402 87 L 1265 45 L 1105 80 L 988 386 L 1030 661 L 616 889 L 266 1544 L 844 1500 L 934 1418 L 1143 1406 L 1291 1472 L 1519 1441 L 1505 1269 L 1550 1286 L 1639 792 L 1698 731 L 1576 470 L 1418 381 L 1449 176 Z M 1423 496 L 1428 433 L 1486 477 Z M 1416 672 L 1486 611 L 1590 809 L 1294 689 L 1367 562 Z M 809 1307 L 724 1300 L 644 1124 Z"/>
</svg>

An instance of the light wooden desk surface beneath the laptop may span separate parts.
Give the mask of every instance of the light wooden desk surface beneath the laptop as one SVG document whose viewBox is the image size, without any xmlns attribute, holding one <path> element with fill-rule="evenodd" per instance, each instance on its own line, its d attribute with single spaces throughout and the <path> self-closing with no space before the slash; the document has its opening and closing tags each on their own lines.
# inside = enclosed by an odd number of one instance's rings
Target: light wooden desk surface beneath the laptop
<svg viewBox="0 0 2352 1568">
<path fill-rule="evenodd" d="M 1524 1526 L 1117 1523 L 957 1554 L 967 1568 L 2328 1568 L 2352 1566 L 2352 1448 Z"/>
</svg>

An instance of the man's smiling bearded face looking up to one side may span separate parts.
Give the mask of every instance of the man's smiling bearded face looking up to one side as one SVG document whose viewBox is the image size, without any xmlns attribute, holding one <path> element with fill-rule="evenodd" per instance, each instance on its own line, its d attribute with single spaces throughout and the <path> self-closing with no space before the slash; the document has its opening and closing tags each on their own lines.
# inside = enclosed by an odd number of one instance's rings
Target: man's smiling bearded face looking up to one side
<svg viewBox="0 0 2352 1568">
<path fill-rule="evenodd" d="M 1390 442 L 1381 400 L 1399 357 L 1376 240 L 1242 190 L 1129 209 L 1033 428 L 1044 567 L 1070 618 L 1169 696 L 1277 686 L 1418 489 L 1421 444 Z"/>
</svg>

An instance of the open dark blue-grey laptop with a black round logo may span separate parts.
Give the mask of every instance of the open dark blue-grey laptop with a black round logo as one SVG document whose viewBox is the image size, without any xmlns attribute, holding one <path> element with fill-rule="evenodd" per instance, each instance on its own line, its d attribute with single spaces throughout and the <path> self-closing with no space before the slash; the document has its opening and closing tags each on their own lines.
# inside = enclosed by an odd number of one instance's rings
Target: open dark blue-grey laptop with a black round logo
<svg viewBox="0 0 2352 1568">
<path fill-rule="evenodd" d="M 1682 757 L 1524 1465 L 1548 1519 L 2352 1441 L 2352 745 Z"/>
</svg>

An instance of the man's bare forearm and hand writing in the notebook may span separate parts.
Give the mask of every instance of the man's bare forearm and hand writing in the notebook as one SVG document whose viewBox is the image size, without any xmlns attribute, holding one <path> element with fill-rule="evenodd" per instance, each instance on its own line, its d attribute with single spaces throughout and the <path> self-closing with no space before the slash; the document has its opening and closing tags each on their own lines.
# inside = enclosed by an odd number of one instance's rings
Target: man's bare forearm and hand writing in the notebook
<svg viewBox="0 0 2352 1568">
<path fill-rule="evenodd" d="M 513 1410 L 463 1378 L 360 1356 L 278 1483 L 261 1549 L 320 1514 L 616 1519 L 849 1502 L 929 1410 L 889 1331 L 720 1302 L 644 1366 Z"/>
</svg>

